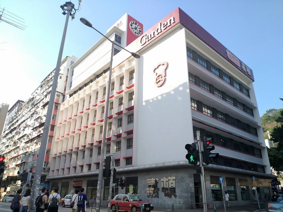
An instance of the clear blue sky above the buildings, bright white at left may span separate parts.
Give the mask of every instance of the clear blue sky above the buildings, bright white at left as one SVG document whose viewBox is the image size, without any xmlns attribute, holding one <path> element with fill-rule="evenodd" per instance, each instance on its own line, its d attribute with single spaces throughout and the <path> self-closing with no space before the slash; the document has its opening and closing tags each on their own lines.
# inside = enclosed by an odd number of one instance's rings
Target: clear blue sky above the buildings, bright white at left
<svg viewBox="0 0 283 212">
<path fill-rule="evenodd" d="M 75 7 L 78 1 L 72 1 Z M 56 66 L 65 16 L 65 1 L 0 1 L 0 7 L 24 18 L 22 31 L 0 22 L 0 102 L 27 99 Z M 63 57 L 80 57 L 100 35 L 84 26 L 85 17 L 102 33 L 126 12 L 144 24 L 144 32 L 180 7 L 254 72 L 254 88 L 262 115 L 283 108 L 283 1 L 92 1 L 69 21 Z M 7 13 L 9 14 L 9 13 Z M 6 16 L 7 17 L 7 16 Z"/>
</svg>

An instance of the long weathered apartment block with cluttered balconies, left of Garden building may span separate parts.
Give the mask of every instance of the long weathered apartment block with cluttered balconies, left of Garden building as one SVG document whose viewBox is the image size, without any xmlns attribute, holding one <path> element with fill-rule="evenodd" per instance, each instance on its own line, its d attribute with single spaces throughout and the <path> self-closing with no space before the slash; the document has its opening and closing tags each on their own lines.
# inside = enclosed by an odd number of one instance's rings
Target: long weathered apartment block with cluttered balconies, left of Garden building
<svg viewBox="0 0 283 212">
<path fill-rule="evenodd" d="M 44 155 L 42 182 L 45 181 L 46 174 L 49 172 L 49 155 L 51 143 L 54 140 L 57 111 L 65 99 L 69 67 L 76 59 L 74 56 L 65 57 L 61 62 L 47 149 Z M 18 100 L 8 112 L 0 143 L 1 153 L 6 157 L 6 169 L 1 187 L 8 186 L 6 182 L 8 176 L 18 176 L 20 173 L 35 170 L 54 73 L 55 69 L 42 80 L 27 101 Z"/>
</svg>

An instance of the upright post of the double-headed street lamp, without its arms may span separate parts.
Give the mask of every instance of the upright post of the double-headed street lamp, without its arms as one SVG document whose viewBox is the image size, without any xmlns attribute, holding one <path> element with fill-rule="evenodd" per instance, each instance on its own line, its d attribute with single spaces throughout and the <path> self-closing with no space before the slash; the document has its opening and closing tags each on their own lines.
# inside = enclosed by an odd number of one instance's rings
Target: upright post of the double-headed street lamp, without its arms
<svg viewBox="0 0 283 212">
<path fill-rule="evenodd" d="M 109 95 L 110 95 L 110 85 L 111 85 L 111 75 L 112 75 L 112 62 L 113 62 L 113 51 L 114 51 L 114 41 L 112 42 L 111 47 L 111 59 L 110 59 L 110 70 L 109 77 L 107 81 L 107 95 L 105 98 L 105 111 L 104 111 L 104 119 L 103 119 L 103 136 L 102 136 L 102 144 L 101 144 L 101 155 L 100 155 L 100 165 L 98 172 L 98 182 L 97 182 L 97 194 L 96 194 L 96 212 L 100 211 L 100 202 L 101 202 L 101 182 L 103 177 L 103 160 L 104 160 L 104 151 L 105 151 L 105 137 L 106 137 L 106 124 L 107 124 L 107 116 L 108 116 L 108 107 L 109 107 Z"/>
</svg>

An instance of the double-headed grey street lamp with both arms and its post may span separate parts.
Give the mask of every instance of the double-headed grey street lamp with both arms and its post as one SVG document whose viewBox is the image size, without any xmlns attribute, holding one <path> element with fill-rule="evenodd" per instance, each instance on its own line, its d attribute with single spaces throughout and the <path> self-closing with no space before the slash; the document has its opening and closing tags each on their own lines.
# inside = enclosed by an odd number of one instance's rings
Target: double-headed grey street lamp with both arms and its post
<svg viewBox="0 0 283 212">
<path fill-rule="evenodd" d="M 113 51 L 114 51 L 114 45 L 119 46 L 118 44 L 114 43 L 114 41 L 110 40 L 108 37 L 106 37 L 104 34 L 99 32 L 97 29 L 95 29 L 91 22 L 89 22 L 85 18 L 80 18 L 80 21 L 85 24 L 88 27 L 93 28 L 101 34 L 103 37 L 105 37 L 107 40 L 109 40 L 112 43 L 111 47 L 111 59 L 110 59 L 110 70 L 109 70 L 109 77 L 107 81 L 107 94 L 105 99 L 105 112 L 104 112 L 104 119 L 103 119 L 103 135 L 102 135 L 102 144 L 101 144 L 101 155 L 100 155 L 100 165 L 99 165 L 99 172 L 98 172 L 98 182 L 97 182 L 97 194 L 96 194 L 96 212 L 100 212 L 100 203 L 101 203 L 101 184 L 102 184 L 102 177 L 103 177 L 103 160 L 104 160 L 104 152 L 105 152 L 105 137 L 106 137 L 106 125 L 107 125 L 107 116 L 108 116 L 108 107 L 109 107 L 109 95 L 110 95 L 110 85 L 111 85 L 111 75 L 112 75 L 112 62 L 113 62 Z M 125 51 L 129 52 L 127 49 L 121 47 Z M 134 52 L 129 52 L 131 55 L 135 58 L 140 58 L 140 56 Z M 110 202 L 111 200 L 109 200 Z"/>
</svg>

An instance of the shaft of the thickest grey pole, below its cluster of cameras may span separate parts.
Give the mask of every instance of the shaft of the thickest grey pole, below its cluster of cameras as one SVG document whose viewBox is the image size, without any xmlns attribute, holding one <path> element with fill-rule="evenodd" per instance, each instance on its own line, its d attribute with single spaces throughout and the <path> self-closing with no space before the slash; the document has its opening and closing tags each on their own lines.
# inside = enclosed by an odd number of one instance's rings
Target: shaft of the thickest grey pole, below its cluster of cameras
<svg viewBox="0 0 283 212">
<path fill-rule="evenodd" d="M 44 156 L 45 156 L 45 152 L 46 152 L 48 133 L 49 133 L 50 122 L 51 122 L 51 118 L 52 118 L 52 112 L 53 112 L 55 94 L 56 94 L 56 89 L 57 89 L 58 76 L 59 76 L 59 71 L 60 71 L 60 64 L 61 64 L 61 60 L 62 60 L 62 54 L 63 54 L 63 49 L 64 49 L 64 43 L 65 43 L 66 32 L 67 32 L 67 27 L 68 27 L 68 21 L 69 21 L 69 16 L 70 16 L 70 11 L 72 9 L 72 6 L 68 4 L 67 9 L 68 9 L 68 13 L 66 15 L 65 27 L 64 27 L 64 30 L 63 30 L 63 35 L 62 35 L 60 50 L 59 50 L 59 54 L 58 54 L 55 74 L 54 74 L 54 77 L 53 77 L 52 89 L 51 89 L 51 92 L 50 92 L 50 98 L 49 98 L 45 123 L 44 123 L 44 127 L 43 127 L 42 139 L 41 139 L 39 153 L 38 153 L 39 157 L 37 158 L 37 165 L 36 165 L 35 172 L 34 172 L 34 178 L 33 178 L 33 183 L 32 183 L 32 195 L 31 195 L 30 203 L 29 203 L 30 204 L 30 206 L 29 206 L 30 212 L 34 212 L 34 209 L 35 209 L 34 202 L 35 202 L 35 199 L 37 197 L 38 191 L 40 190 L 40 180 L 41 180 L 41 174 L 42 174 L 42 167 L 43 167 L 44 158 L 45 158 Z"/>
</svg>

